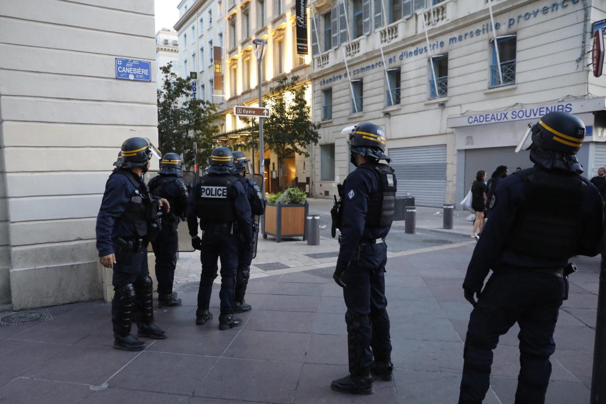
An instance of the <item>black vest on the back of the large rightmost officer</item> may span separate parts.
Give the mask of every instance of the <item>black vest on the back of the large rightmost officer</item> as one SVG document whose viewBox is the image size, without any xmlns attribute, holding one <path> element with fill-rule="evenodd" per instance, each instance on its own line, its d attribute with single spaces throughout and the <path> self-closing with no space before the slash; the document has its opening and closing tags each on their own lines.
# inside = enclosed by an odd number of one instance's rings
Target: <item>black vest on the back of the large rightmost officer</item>
<svg viewBox="0 0 606 404">
<path fill-rule="evenodd" d="M 526 199 L 505 246 L 531 257 L 567 260 L 576 254 L 587 182 L 543 168 L 519 171 Z M 497 201 L 498 202 L 498 201 Z"/>
</svg>

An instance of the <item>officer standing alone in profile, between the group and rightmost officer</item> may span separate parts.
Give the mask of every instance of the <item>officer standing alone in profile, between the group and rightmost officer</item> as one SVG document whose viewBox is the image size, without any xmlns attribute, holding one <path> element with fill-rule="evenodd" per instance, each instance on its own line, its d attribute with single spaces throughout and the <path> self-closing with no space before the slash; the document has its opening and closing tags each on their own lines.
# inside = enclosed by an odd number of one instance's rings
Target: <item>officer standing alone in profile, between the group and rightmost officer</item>
<svg viewBox="0 0 606 404">
<path fill-rule="evenodd" d="M 348 131 L 348 128 L 345 128 Z M 395 210 L 396 177 L 387 164 L 385 133 L 362 122 L 349 131 L 351 172 L 342 187 L 338 216 L 341 237 L 333 278 L 343 287 L 347 313 L 348 376 L 331 388 L 372 394 L 373 378 L 391 380 L 390 322 L 385 297 L 385 237 Z"/>
</svg>

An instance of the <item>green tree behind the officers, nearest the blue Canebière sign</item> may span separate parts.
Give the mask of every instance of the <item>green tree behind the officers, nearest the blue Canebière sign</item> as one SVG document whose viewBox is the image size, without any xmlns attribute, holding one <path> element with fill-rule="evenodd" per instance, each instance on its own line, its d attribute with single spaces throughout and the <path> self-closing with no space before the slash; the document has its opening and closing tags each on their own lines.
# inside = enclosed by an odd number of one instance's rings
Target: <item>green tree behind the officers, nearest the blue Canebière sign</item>
<svg viewBox="0 0 606 404">
<path fill-rule="evenodd" d="M 160 68 L 164 81 L 157 93 L 159 149 L 182 153 L 185 164 L 193 165 L 193 142 L 198 142 L 198 164 L 204 167 L 216 143 L 213 134 L 219 130 L 217 106 L 191 98 L 191 79 L 178 77 L 171 67 L 168 62 Z"/>
</svg>

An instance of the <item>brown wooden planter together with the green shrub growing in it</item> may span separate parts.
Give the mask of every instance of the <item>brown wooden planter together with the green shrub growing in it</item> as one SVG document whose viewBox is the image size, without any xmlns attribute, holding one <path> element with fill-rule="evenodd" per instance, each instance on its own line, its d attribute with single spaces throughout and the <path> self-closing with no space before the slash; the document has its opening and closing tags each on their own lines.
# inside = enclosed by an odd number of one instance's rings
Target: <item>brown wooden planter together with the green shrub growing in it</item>
<svg viewBox="0 0 606 404">
<path fill-rule="evenodd" d="M 263 238 L 273 236 L 276 242 L 281 242 L 282 237 L 303 237 L 305 240 L 308 210 L 307 194 L 299 188 L 287 188 L 283 193 L 270 197 L 263 216 Z"/>
</svg>

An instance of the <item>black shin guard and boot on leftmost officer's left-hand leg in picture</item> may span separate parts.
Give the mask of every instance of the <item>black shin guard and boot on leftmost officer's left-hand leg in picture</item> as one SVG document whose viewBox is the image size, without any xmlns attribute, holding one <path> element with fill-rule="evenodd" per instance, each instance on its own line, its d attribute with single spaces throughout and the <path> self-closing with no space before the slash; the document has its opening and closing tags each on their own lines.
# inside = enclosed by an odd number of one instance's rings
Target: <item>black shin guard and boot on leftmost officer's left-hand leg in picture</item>
<svg viewBox="0 0 606 404">
<path fill-rule="evenodd" d="M 124 351 L 141 351 L 145 342 L 130 334 L 135 305 L 135 289 L 132 283 L 115 291 L 112 300 L 113 346 Z"/>
</svg>

